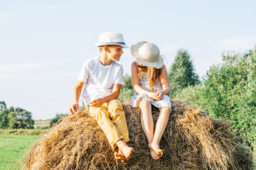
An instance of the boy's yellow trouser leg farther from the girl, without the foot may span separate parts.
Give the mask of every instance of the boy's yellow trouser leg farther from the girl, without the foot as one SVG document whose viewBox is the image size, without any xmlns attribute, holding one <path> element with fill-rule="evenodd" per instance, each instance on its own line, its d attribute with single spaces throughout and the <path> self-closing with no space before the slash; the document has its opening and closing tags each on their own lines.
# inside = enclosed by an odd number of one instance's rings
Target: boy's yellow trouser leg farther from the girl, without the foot
<svg viewBox="0 0 256 170">
<path fill-rule="evenodd" d="M 97 120 L 98 125 L 105 133 L 110 146 L 114 149 L 118 140 L 123 139 L 117 127 L 110 120 L 110 113 L 106 110 L 105 106 L 93 107 L 87 106 L 88 113 Z"/>
</svg>

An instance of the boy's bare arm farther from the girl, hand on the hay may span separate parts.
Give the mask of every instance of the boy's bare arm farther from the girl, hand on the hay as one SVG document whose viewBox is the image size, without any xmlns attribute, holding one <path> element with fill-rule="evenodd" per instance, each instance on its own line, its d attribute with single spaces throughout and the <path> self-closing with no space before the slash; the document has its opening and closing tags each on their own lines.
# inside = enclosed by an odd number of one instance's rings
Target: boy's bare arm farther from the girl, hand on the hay
<svg viewBox="0 0 256 170">
<path fill-rule="evenodd" d="M 73 92 L 73 100 L 74 103 L 73 105 L 70 107 L 70 114 L 75 114 L 78 111 L 79 108 L 79 98 L 80 98 L 80 94 L 82 91 L 82 86 L 84 86 L 85 82 L 79 81 L 77 82 L 77 84 L 75 84 L 75 88 L 74 88 L 74 92 Z"/>
</svg>

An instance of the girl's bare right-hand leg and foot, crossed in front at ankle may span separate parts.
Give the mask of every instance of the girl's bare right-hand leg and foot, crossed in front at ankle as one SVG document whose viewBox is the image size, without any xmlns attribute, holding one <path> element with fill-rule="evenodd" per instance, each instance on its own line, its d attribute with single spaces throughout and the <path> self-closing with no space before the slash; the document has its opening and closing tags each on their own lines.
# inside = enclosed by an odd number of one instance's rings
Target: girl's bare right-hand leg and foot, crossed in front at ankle
<svg viewBox="0 0 256 170">
<path fill-rule="evenodd" d="M 159 157 L 161 157 L 164 154 L 164 152 L 162 149 L 160 149 L 159 143 L 162 135 L 164 134 L 164 130 L 166 129 L 166 125 L 169 121 L 169 115 L 171 113 L 171 109 L 159 108 L 159 111 L 160 111 L 160 114 L 156 122 L 156 130 L 154 132 L 154 137 L 149 147 L 153 149 L 154 152 L 156 152 L 156 154 L 159 155 Z"/>
</svg>

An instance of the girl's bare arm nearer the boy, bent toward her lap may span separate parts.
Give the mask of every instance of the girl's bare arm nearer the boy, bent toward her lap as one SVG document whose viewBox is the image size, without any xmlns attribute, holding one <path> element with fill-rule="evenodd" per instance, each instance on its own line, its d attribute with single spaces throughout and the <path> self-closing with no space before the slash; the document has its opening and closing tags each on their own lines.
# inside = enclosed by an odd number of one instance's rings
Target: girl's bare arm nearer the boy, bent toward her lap
<svg viewBox="0 0 256 170">
<path fill-rule="evenodd" d="M 138 70 L 136 62 L 132 62 L 132 86 L 134 88 L 134 91 L 137 92 L 137 94 L 146 94 L 150 98 L 152 98 L 153 94 L 152 92 L 146 91 L 142 88 L 142 86 L 139 86 L 139 76 L 138 76 Z"/>
</svg>

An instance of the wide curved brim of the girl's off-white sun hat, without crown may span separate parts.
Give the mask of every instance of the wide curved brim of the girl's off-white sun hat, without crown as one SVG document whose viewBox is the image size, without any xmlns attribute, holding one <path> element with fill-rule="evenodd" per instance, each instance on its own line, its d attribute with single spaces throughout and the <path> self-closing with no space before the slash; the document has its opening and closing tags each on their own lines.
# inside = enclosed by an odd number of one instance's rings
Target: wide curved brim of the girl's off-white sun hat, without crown
<svg viewBox="0 0 256 170">
<path fill-rule="evenodd" d="M 148 61 L 144 60 L 139 55 L 139 52 L 138 52 L 139 48 L 142 47 L 142 45 L 144 45 L 145 43 L 147 43 L 147 42 L 146 41 L 142 41 L 142 42 L 138 42 L 136 45 L 132 45 L 131 46 L 132 57 L 134 57 L 137 62 L 143 64 L 144 66 L 154 67 L 156 69 L 160 69 L 161 67 L 164 66 L 164 59 L 163 59 L 163 57 L 161 57 L 161 55 L 159 55 L 159 59 L 156 62 L 148 62 Z"/>
</svg>

